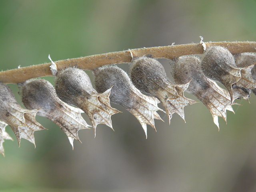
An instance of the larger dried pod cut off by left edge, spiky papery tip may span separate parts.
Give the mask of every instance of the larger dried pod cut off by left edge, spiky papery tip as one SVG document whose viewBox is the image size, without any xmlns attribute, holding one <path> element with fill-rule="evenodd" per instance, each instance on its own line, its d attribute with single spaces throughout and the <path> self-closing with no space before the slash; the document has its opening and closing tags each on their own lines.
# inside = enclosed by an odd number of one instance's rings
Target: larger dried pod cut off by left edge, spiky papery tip
<svg viewBox="0 0 256 192">
<path fill-rule="evenodd" d="M 37 109 L 27 110 L 22 108 L 16 102 L 12 90 L 7 85 L 0 83 L 0 120 L 12 128 L 19 146 L 20 138 L 24 138 L 36 146 L 34 132 L 45 129 L 35 120 L 37 112 Z"/>
</svg>

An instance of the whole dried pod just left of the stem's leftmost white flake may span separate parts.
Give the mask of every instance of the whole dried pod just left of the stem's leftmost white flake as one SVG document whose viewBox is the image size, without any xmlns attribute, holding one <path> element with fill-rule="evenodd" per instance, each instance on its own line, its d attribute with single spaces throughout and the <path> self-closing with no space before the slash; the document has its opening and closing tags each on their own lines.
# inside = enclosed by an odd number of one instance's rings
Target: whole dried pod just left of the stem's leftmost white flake
<svg viewBox="0 0 256 192">
<path fill-rule="evenodd" d="M 22 102 L 27 109 L 38 109 L 38 115 L 56 123 L 68 136 L 73 146 L 74 139 L 79 140 L 78 130 L 88 129 L 88 124 L 81 116 L 82 110 L 62 102 L 54 87 L 44 79 L 32 79 L 19 84 Z"/>
</svg>

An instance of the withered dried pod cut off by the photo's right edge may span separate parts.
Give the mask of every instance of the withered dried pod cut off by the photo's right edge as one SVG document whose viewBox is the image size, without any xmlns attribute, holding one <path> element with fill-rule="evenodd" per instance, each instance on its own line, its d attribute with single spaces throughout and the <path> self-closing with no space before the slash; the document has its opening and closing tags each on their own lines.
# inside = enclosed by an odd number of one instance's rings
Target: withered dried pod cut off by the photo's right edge
<svg viewBox="0 0 256 192">
<path fill-rule="evenodd" d="M 256 80 L 252 77 L 252 69 L 256 63 L 256 54 L 241 53 L 234 56 L 237 67 L 241 67 L 241 79 L 234 84 L 236 97 L 244 98 L 249 102 L 251 90 L 256 88 Z"/>
</svg>

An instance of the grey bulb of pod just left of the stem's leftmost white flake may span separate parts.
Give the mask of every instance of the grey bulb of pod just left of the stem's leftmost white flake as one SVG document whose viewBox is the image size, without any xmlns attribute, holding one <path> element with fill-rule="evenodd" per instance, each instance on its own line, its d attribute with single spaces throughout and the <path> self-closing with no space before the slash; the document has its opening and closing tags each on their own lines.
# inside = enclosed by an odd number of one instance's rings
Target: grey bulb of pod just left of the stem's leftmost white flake
<svg viewBox="0 0 256 192">
<path fill-rule="evenodd" d="M 19 84 L 22 102 L 27 109 L 39 109 L 38 115 L 45 116 L 62 105 L 52 84 L 44 79 L 32 79 Z"/>
</svg>

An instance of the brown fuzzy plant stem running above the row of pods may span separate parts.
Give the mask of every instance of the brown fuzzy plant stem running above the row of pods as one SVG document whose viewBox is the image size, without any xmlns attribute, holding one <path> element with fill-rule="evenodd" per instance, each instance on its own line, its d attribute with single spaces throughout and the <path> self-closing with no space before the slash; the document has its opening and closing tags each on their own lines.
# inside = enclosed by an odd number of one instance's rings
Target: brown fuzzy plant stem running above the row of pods
<svg viewBox="0 0 256 192">
<path fill-rule="evenodd" d="M 205 42 L 205 45 L 206 49 L 211 46 L 222 46 L 230 50 L 232 54 L 239 54 L 242 52 L 256 52 L 256 42 Z M 56 61 L 55 64 L 57 65 L 58 70 L 62 70 L 66 67 L 77 67 L 83 70 L 92 70 L 103 65 L 129 63 L 132 60 L 132 56 L 150 56 L 152 58 L 173 59 L 183 55 L 203 53 L 204 48 L 202 44 L 183 44 L 132 49 L 80 58 L 59 60 Z M 31 78 L 52 76 L 50 65 L 51 63 L 46 63 L 3 71 L 0 72 L 0 81 L 2 81 L 4 84 L 16 84 Z"/>
</svg>

